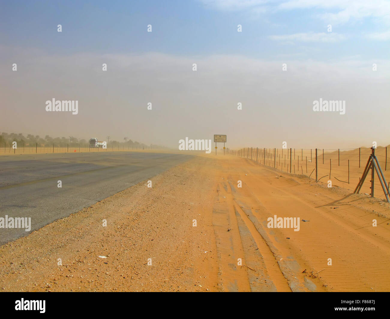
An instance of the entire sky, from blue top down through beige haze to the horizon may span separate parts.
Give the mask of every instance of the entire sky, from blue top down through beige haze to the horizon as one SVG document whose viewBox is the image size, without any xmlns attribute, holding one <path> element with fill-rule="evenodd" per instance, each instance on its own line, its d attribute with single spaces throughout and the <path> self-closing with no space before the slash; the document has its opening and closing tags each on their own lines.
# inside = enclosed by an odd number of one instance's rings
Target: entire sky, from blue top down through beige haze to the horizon
<svg viewBox="0 0 390 319">
<path fill-rule="evenodd" d="M 0 132 L 175 148 L 213 134 L 231 148 L 390 143 L 390 1 L 1 4 Z M 78 114 L 46 112 L 53 98 L 78 100 Z M 314 112 L 319 99 L 345 101 L 345 114 Z"/>
</svg>

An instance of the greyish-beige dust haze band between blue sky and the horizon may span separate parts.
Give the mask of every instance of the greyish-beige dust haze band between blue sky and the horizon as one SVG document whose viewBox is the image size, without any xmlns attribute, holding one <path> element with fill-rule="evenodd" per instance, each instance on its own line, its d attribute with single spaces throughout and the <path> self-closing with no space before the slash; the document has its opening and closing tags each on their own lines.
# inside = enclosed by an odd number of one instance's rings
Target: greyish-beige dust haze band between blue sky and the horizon
<svg viewBox="0 0 390 319">
<path fill-rule="evenodd" d="M 228 146 L 353 148 L 386 145 L 389 63 L 266 61 L 243 56 L 118 55 L 2 48 L 6 132 L 178 147 L 179 139 L 226 134 Z M 18 62 L 17 72 L 10 65 Z M 102 70 L 103 63 L 107 71 Z M 193 63 L 197 70 L 192 70 Z M 282 71 L 282 64 L 287 71 Z M 46 100 L 78 100 L 78 114 L 46 112 Z M 346 113 L 313 101 L 345 100 Z M 152 109 L 148 110 L 148 103 Z M 242 104 L 242 110 L 238 109 Z M 375 125 L 375 132 L 365 128 Z"/>
</svg>

